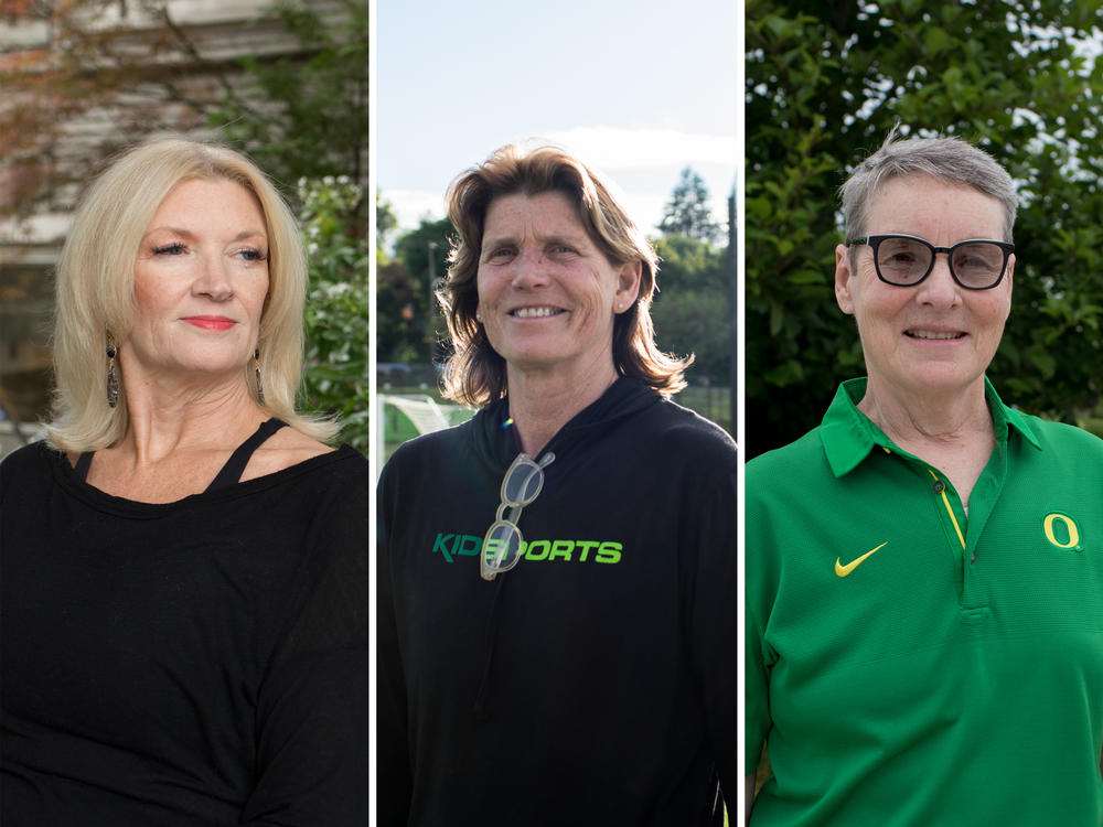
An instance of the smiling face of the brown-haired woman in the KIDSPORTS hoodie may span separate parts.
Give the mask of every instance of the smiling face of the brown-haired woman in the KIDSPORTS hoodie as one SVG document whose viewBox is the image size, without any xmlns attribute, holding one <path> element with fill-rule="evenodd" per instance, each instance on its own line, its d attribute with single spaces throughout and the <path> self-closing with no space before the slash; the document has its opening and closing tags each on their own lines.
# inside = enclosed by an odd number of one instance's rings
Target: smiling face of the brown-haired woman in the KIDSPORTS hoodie
<svg viewBox="0 0 1103 827">
<path fill-rule="evenodd" d="M 483 223 L 479 316 L 511 369 L 608 370 L 613 319 L 635 301 L 640 273 L 639 261 L 606 258 L 565 194 L 502 195 Z"/>
</svg>

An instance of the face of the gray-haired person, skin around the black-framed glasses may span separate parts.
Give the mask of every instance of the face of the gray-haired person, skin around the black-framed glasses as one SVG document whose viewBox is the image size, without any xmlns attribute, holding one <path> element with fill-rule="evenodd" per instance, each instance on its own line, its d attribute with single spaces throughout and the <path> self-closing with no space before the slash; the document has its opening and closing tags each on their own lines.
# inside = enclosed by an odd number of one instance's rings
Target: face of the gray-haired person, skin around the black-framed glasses
<svg viewBox="0 0 1103 827">
<path fill-rule="evenodd" d="M 971 238 L 1003 240 L 1000 203 L 968 186 L 951 186 L 930 175 L 890 179 L 870 198 L 867 235 L 900 233 L 936 247 Z M 1011 273 L 989 290 L 966 290 L 950 275 L 946 256 L 914 287 L 877 278 L 872 250 L 835 250 L 835 296 L 854 315 L 870 387 L 928 394 L 961 390 L 981 380 L 996 353 L 1011 308 Z"/>
</svg>

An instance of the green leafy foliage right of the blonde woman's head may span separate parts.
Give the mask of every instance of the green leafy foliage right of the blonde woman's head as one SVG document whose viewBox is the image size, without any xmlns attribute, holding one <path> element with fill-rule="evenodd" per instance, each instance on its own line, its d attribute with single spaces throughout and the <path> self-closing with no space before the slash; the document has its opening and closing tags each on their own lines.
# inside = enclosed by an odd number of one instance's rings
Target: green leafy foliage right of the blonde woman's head
<svg viewBox="0 0 1103 827">
<path fill-rule="evenodd" d="M 325 11 L 301 0 L 274 3 L 268 14 L 299 47 L 275 58 L 242 58 L 244 79 L 225 86 L 207 122 L 299 210 L 310 272 L 303 401 L 336 415 L 342 439 L 366 453 L 367 7 L 339 0 Z M 376 210 L 386 232 L 386 205 Z"/>
</svg>

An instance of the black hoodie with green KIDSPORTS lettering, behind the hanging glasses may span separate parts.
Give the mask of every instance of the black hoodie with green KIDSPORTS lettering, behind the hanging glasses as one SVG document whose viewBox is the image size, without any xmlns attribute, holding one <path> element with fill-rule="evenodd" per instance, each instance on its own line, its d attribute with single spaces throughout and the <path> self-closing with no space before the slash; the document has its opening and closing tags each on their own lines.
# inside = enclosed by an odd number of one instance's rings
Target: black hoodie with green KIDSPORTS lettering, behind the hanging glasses
<svg viewBox="0 0 1103 827">
<path fill-rule="evenodd" d="M 547 444 L 526 554 L 488 582 L 505 415 L 383 471 L 381 827 L 717 825 L 718 781 L 733 821 L 735 443 L 620 379 Z"/>
</svg>

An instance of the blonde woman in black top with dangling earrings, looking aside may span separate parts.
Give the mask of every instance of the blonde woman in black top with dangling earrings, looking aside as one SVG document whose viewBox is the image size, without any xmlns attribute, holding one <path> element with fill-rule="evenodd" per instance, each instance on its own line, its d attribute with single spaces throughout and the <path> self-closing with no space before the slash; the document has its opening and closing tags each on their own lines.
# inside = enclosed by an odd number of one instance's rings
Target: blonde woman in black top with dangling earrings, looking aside
<svg viewBox="0 0 1103 827">
<path fill-rule="evenodd" d="M 306 268 L 243 155 L 119 158 L 0 465 L 0 820 L 360 825 L 367 463 L 295 409 Z"/>
</svg>

